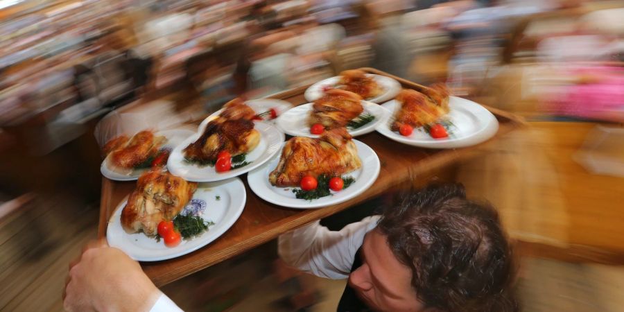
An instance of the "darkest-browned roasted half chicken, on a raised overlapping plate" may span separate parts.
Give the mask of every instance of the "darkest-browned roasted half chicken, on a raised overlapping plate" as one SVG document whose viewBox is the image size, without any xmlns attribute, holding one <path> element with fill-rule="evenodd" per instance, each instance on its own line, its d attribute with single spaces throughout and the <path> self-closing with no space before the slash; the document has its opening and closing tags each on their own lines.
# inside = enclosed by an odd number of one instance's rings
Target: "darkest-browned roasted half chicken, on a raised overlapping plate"
<svg viewBox="0 0 624 312">
<path fill-rule="evenodd" d="M 234 156 L 248 153 L 258 146 L 260 132 L 254 129 L 254 110 L 238 98 L 224 108 L 216 119 L 206 125 L 202 136 L 184 148 L 184 157 L 190 161 L 214 162 L 222 150 Z"/>
</svg>

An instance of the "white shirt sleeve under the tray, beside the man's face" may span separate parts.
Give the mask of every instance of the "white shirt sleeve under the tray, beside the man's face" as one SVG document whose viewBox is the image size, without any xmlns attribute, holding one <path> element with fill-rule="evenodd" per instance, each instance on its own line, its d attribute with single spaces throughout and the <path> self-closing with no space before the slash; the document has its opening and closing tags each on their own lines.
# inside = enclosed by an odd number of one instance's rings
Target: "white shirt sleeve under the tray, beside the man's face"
<svg viewBox="0 0 624 312">
<path fill-rule="evenodd" d="M 340 231 L 330 231 L 316 221 L 282 234 L 278 252 L 284 262 L 304 272 L 330 279 L 345 279 L 351 272 L 356 252 L 367 232 L 377 226 L 380 216 L 351 223 Z"/>
</svg>

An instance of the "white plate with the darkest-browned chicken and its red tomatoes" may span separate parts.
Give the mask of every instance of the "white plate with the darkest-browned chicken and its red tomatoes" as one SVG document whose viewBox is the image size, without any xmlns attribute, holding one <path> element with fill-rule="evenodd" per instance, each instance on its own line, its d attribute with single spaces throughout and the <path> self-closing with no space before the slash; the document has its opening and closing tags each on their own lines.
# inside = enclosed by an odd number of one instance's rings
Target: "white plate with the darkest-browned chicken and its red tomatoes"
<svg viewBox="0 0 624 312">
<path fill-rule="evenodd" d="M 261 166 L 277 153 L 284 133 L 270 123 L 254 121 L 255 116 L 242 100 L 230 101 L 173 149 L 168 170 L 189 181 L 211 182 Z"/>
</svg>

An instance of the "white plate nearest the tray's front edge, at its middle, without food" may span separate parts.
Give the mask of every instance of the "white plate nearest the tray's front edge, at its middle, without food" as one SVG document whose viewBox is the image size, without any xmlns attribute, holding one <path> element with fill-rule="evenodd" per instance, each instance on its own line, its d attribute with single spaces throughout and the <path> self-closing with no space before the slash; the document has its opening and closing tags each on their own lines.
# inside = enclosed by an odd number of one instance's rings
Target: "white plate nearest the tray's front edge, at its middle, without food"
<svg viewBox="0 0 624 312">
<path fill-rule="evenodd" d="M 256 193 L 257 196 L 272 202 L 275 205 L 309 209 L 326 207 L 329 205 L 336 205 L 340 202 L 350 200 L 364 191 L 366 191 L 377 180 L 381 165 L 379 164 L 379 157 L 375 154 L 372 148 L 363 144 L 361 141 L 353 140 L 358 148 L 358 155 L 362 160 L 362 167 L 356 171 L 345 173 L 343 177 L 354 177 L 355 182 L 351 184 L 347 189 L 334 192 L 331 191 L 331 196 L 318 198 L 315 200 L 304 200 L 295 197 L 293 193 L 294 187 L 274 187 L 270 184 L 268 177 L 269 173 L 277 167 L 280 154 L 273 157 L 270 162 L 267 162 L 263 166 L 251 171 L 247 175 L 247 181 L 249 187 Z"/>
</svg>

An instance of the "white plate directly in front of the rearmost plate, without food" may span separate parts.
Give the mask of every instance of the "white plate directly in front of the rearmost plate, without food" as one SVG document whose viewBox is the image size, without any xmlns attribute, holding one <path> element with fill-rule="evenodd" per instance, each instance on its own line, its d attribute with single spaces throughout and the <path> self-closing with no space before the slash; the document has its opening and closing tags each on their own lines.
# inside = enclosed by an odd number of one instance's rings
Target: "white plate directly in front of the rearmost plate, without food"
<svg viewBox="0 0 624 312">
<path fill-rule="evenodd" d="M 347 128 L 349 134 L 354 137 L 373 132 L 381 122 L 388 119 L 388 116 L 390 116 L 390 111 L 381 107 L 379 104 L 362 101 L 362 105 L 364 107 L 364 112 L 362 114 L 372 114 L 375 116 L 375 119 L 355 130 Z M 286 132 L 287 135 L 292 135 L 293 137 L 320 137 L 320 135 L 313 135 L 310 133 L 308 119 L 311 112 L 312 103 L 293 107 L 277 118 L 277 126 L 282 131 Z"/>
</svg>

